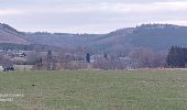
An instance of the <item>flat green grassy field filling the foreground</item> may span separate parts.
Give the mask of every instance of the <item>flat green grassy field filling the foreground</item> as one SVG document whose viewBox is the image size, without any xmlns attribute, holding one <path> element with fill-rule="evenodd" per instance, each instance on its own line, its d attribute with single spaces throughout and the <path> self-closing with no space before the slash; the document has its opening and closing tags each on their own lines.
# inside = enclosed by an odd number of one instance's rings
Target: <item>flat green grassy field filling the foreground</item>
<svg viewBox="0 0 187 110">
<path fill-rule="evenodd" d="M 187 72 L 0 73 L 0 110 L 187 110 Z"/>
</svg>

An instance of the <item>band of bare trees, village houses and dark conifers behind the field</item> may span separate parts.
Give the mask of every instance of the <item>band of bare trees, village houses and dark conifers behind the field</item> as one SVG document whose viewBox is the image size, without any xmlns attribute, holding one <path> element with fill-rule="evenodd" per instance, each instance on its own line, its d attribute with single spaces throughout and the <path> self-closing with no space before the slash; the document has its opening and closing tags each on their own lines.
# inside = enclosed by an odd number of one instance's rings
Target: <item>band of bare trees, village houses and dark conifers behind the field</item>
<svg viewBox="0 0 187 110">
<path fill-rule="evenodd" d="M 134 70 L 138 68 L 185 68 L 187 48 L 172 46 L 160 54 L 136 48 L 129 54 L 65 52 L 63 50 L 0 50 L 0 72 L 8 70 Z"/>
</svg>

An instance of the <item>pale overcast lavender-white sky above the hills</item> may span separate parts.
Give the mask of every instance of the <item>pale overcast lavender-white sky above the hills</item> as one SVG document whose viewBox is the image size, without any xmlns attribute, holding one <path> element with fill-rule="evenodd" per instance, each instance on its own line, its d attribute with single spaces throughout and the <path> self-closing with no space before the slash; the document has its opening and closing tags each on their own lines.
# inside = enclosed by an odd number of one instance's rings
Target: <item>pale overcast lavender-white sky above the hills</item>
<svg viewBox="0 0 187 110">
<path fill-rule="evenodd" d="M 94 34 L 145 23 L 187 25 L 187 0 L 0 0 L 0 22 L 24 32 Z"/>
</svg>

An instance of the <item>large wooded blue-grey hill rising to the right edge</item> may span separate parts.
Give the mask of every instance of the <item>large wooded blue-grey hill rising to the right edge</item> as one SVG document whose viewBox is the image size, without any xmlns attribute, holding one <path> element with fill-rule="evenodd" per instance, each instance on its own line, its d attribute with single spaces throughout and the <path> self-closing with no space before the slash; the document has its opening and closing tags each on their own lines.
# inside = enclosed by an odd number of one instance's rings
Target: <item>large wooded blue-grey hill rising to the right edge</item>
<svg viewBox="0 0 187 110">
<path fill-rule="evenodd" d="M 98 41 L 90 48 L 113 51 L 131 51 L 135 47 L 147 47 L 153 51 L 167 51 L 173 45 L 187 46 L 187 26 L 172 24 L 143 24 L 136 28 L 121 29 Z"/>
</svg>

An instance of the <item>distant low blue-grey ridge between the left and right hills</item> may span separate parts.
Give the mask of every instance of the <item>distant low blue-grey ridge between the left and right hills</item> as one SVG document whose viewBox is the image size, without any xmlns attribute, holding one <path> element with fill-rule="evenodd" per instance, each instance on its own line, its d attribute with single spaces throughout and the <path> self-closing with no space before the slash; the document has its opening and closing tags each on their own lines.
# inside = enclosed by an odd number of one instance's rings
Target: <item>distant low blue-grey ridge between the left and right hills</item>
<svg viewBox="0 0 187 110">
<path fill-rule="evenodd" d="M 26 38 L 34 43 L 50 46 L 58 46 L 63 48 L 86 47 L 94 40 L 102 36 L 102 34 L 68 34 L 68 33 L 23 33 Z"/>
</svg>

